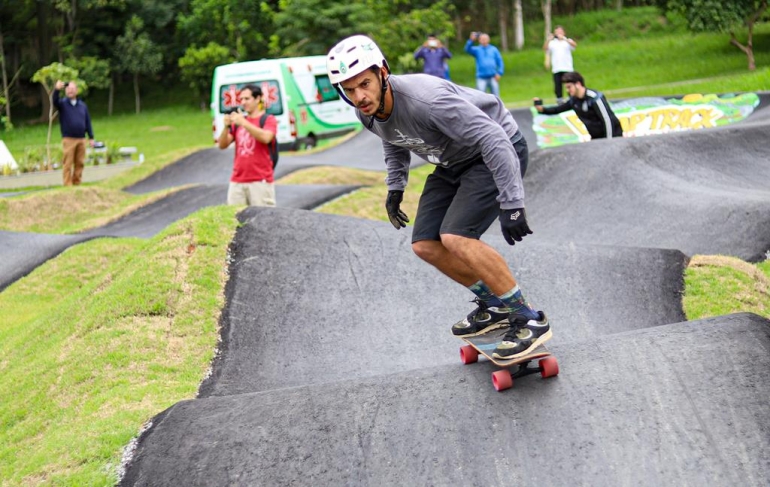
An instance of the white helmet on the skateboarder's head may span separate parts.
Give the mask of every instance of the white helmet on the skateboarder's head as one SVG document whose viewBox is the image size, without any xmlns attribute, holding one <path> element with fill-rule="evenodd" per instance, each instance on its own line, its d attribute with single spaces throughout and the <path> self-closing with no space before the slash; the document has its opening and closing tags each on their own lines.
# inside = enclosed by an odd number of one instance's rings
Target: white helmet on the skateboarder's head
<svg viewBox="0 0 770 487">
<path fill-rule="evenodd" d="M 390 67 L 377 44 L 363 35 L 343 39 L 326 55 L 326 73 L 335 86 L 357 76 L 372 66 Z"/>
</svg>

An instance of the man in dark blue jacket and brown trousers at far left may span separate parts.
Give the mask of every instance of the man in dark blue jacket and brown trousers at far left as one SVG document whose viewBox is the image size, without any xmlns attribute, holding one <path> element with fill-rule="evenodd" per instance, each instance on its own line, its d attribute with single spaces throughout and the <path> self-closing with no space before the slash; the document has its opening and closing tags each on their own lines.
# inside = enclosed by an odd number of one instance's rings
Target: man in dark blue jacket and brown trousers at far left
<svg viewBox="0 0 770 487">
<path fill-rule="evenodd" d="M 59 98 L 64 88 L 65 98 Z M 85 102 L 78 98 L 78 87 L 74 81 L 67 84 L 57 81 L 53 92 L 53 106 L 59 110 L 59 123 L 62 137 L 62 179 L 65 186 L 77 186 L 83 175 L 83 163 L 86 159 L 86 134 L 90 144 L 94 145 L 94 131 L 91 128 L 91 115 Z"/>
</svg>

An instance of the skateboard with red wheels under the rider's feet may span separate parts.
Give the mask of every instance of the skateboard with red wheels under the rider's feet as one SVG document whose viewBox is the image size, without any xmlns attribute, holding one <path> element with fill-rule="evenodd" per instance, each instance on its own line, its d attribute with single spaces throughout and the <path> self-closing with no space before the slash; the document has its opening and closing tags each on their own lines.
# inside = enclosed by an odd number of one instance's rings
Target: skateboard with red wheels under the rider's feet
<svg viewBox="0 0 770 487">
<path fill-rule="evenodd" d="M 493 364 L 501 367 L 502 370 L 492 372 L 492 384 L 498 392 L 510 389 L 513 387 L 513 379 L 525 375 L 540 372 L 540 375 L 545 379 L 559 374 L 559 362 L 545 348 L 545 345 L 540 345 L 529 354 L 514 359 L 506 360 L 492 357 L 492 352 L 503 341 L 506 331 L 507 328 L 501 328 L 475 337 L 460 337 L 462 341 L 467 343 L 467 345 L 460 347 L 460 360 L 466 365 L 473 364 L 478 362 L 479 354 L 481 354 Z M 537 366 L 530 367 L 530 362 L 535 360 L 537 360 Z M 514 366 L 515 369 L 512 369 Z"/>
</svg>

